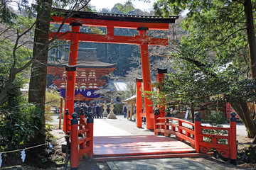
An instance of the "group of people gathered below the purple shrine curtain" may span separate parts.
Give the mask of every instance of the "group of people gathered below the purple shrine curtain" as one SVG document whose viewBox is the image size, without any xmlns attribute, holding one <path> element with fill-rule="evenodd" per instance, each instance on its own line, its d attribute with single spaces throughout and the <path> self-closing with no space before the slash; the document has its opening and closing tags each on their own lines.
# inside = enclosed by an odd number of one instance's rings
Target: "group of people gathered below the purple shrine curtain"
<svg viewBox="0 0 256 170">
<path fill-rule="evenodd" d="M 80 115 L 81 112 L 83 112 L 85 114 L 85 118 L 87 117 L 87 113 L 92 113 L 93 118 L 103 118 L 103 111 L 104 108 L 102 106 L 102 104 L 97 104 L 97 106 L 95 104 L 91 104 L 91 105 L 87 105 L 82 104 L 81 106 L 77 103 L 75 108 L 74 108 L 74 112 L 78 113 L 78 115 Z"/>
</svg>

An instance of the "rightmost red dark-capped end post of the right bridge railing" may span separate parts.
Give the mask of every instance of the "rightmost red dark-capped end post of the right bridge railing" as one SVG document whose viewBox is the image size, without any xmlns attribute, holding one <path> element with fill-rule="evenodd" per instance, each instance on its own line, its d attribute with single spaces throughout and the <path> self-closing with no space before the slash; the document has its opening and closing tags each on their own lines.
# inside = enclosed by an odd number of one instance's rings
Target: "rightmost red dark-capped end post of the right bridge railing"
<svg viewBox="0 0 256 170">
<path fill-rule="evenodd" d="M 230 163 L 236 165 L 237 142 L 236 142 L 236 118 L 235 113 L 231 113 L 230 118 Z"/>
</svg>

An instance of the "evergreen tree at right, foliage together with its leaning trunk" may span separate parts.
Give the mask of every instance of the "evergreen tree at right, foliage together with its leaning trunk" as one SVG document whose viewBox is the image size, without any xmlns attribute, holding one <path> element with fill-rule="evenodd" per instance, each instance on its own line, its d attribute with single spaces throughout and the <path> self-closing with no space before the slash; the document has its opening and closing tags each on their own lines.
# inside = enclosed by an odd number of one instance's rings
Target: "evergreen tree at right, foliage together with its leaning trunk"
<svg viewBox="0 0 256 170">
<path fill-rule="evenodd" d="M 255 59 L 256 43 L 255 28 L 253 26 L 252 1 L 158 1 L 154 4 L 156 13 L 169 16 L 170 13 L 178 14 L 188 9 L 187 18 L 183 21 L 183 28 L 189 31 L 188 38 L 184 37 L 178 52 L 173 57 L 178 62 L 189 62 L 200 70 L 208 79 L 212 89 L 219 85 L 219 93 L 225 94 L 225 99 L 230 102 L 247 128 L 248 137 L 255 137 L 256 126 L 247 107 L 247 102 L 255 98 Z M 255 2 L 255 1 L 253 1 Z M 249 48 L 248 48 L 249 47 Z M 251 77 L 248 79 L 247 62 L 250 59 Z M 228 64 L 228 69 L 223 72 L 218 70 Z M 185 67 L 185 66 L 183 66 Z M 184 71 L 184 70 L 183 70 Z M 188 70 L 185 71 L 191 74 Z M 198 74 L 194 74 L 193 79 Z M 233 81 L 228 81 L 232 79 Z M 197 79 L 199 79 L 197 77 Z M 198 82 L 198 81 L 196 81 Z M 209 84 L 212 82 L 213 84 Z M 191 82 L 192 84 L 193 82 Z M 193 86 L 191 85 L 191 88 Z M 196 91 L 196 89 L 195 89 Z M 228 92 L 229 91 L 229 92 Z M 206 90 L 202 90 L 202 94 Z M 213 91 L 212 91 L 213 92 Z M 218 93 L 216 93 L 217 95 Z M 250 95 L 243 95 L 243 94 Z M 214 93 L 212 93 L 214 94 Z M 193 96 L 196 97 L 196 96 Z"/>
</svg>

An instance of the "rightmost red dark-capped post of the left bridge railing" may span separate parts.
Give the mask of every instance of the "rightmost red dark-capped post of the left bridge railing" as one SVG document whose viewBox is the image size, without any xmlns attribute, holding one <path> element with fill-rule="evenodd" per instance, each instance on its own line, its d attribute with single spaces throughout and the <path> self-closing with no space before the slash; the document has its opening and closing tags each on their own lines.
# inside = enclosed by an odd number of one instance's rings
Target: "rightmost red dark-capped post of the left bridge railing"
<svg viewBox="0 0 256 170">
<path fill-rule="evenodd" d="M 89 153 L 89 157 L 93 157 L 93 118 L 92 118 L 92 113 L 88 113 L 87 114 L 88 118 L 86 120 L 87 123 L 87 128 L 89 128 L 89 132 L 87 132 L 87 137 L 90 137 L 90 141 L 86 142 L 86 146 L 90 147 L 90 153 Z"/>
</svg>

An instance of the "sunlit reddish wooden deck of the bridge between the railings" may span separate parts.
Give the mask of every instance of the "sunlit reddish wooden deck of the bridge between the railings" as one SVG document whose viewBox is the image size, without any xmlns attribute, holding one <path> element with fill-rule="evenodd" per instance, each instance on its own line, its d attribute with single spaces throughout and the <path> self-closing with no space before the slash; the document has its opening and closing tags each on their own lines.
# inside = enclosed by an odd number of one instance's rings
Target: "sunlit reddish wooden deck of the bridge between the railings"
<svg viewBox="0 0 256 170">
<path fill-rule="evenodd" d="M 93 149 L 94 157 L 195 153 L 195 149 L 185 143 L 159 135 L 94 137 Z"/>
</svg>

